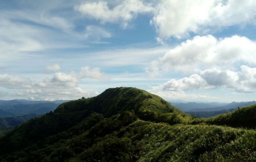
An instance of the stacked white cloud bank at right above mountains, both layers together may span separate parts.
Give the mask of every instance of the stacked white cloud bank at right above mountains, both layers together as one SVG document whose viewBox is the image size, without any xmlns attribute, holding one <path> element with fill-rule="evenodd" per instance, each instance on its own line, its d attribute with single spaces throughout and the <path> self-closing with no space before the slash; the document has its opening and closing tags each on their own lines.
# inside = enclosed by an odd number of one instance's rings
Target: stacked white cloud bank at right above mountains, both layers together
<svg viewBox="0 0 256 162">
<path fill-rule="evenodd" d="M 189 77 L 171 79 L 155 89 L 192 91 L 222 87 L 256 92 L 256 42 L 237 35 L 220 39 L 212 35 L 196 36 L 152 61 L 146 69 L 149 76 L 170 71 Z"/>
</svg>

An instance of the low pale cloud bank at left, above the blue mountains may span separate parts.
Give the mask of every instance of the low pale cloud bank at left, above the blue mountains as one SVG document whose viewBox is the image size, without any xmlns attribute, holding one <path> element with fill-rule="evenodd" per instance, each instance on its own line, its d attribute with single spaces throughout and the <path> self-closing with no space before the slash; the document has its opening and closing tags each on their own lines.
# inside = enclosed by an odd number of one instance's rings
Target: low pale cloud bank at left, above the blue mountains
<svg viewBox="0 0 256 162">
<path fill-rule="evenodd" d="M 0 87 L 12 89 L 15 97 L 24 97 L 53 100 L 53 99 L 77 99 L 80 97 L 93 97 L 98 95 L 96 91 L 87 91 L 79 86 L 82 79 L 107 80 L 109 77 L 103 74 L 99 68 L 85 66 L 80 72 L 72 71 L 70 74 L 57 72 L 52 77 L 41 80 L 31 80 L 10 74 L 0 74 Z M 11 95 L 10 93 L 6 94 Z"/>
</svg>

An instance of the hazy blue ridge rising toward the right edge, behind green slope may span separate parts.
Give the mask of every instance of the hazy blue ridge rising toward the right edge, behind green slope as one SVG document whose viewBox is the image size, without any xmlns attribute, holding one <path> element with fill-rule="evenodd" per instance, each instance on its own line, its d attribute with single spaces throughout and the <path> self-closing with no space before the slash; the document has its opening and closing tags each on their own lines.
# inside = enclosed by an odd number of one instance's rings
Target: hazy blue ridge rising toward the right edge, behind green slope
<svg viewBox="0 0 256 162">
<path fill-rule="evenodd" d="M 230 104 L 219 106 L 219 107 L 212 107 L 212 108 L 194 108 L 190 111 L 221 111 L 221 110 L 228 110 L 228 109 L 236 109 L 237 107 L 249 106 L 256 104 L 256 101 L 251 102 L 232 102 Z"/>
</svg>

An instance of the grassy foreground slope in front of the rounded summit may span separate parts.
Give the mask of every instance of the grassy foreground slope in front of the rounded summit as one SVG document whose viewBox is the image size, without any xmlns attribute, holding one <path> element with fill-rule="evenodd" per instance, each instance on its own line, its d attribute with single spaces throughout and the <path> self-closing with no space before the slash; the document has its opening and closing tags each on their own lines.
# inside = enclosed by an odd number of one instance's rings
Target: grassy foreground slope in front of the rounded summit
<svg viewBox="0 0 256 162">
<path fill-rule="evenodd" d="M 97 117 L 97 115 L 96 115 Z M 96 120 L 98 119 L 98 121 Z M 129 112 L 89 116 L 43 143 L 2 154 L 9 162 L 254 162 L 256 131 L 146 122 Z"/>
</svg>

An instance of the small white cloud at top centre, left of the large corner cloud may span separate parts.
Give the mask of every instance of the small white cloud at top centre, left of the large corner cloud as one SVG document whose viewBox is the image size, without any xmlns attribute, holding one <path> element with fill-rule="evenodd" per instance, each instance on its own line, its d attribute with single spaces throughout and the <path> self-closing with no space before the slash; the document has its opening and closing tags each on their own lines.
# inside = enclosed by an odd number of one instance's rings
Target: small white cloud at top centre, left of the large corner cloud
<svg viewBox="0 0 256 162">
<path fill-rule="evenodd" d="M 136 17 L 136 14 L 152 11 L 151 6 L 142 0 L 122 0 L 120 4 L 110 9 L 108 2 L 86 2 L 75 6 L 75 10 L 85 16 L 100 20 L 101 23 L 122 23 L 125 28 L 128 21 Z"/>
</svg>

